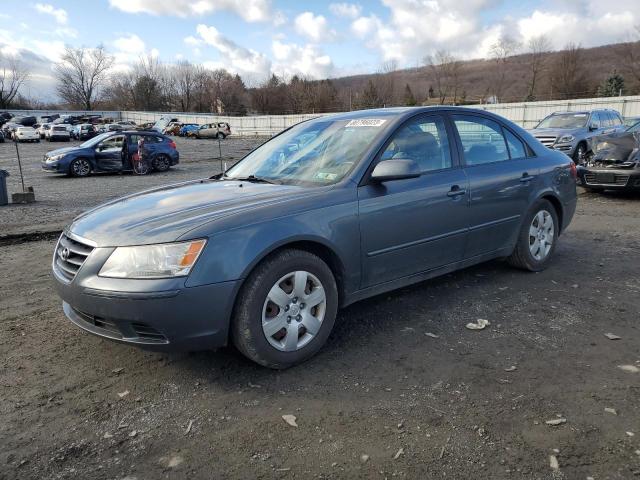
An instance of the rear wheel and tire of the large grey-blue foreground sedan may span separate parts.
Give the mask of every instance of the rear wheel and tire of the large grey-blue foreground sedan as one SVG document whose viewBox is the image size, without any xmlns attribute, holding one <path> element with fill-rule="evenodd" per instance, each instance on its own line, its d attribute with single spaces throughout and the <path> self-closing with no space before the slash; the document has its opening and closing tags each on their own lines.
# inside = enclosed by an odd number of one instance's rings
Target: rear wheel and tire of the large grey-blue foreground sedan
<svg viewBox="0 0 640 480">
<path fill-rule="evenodd" d="M 542 221 L 543 219 L 544 221 Z M 552 226 L 552 231 L 548 229 L 549 225 Z M 558 213 L 555 207 L 548 200 L 538 200 L 522 222 L 518 242 L 508 258 L 509 263 L 530 272 L 540 272 L 547 268 L 558 243 L 559 229 Z M 537 235 L 541 237 L 537 237 Z M 537 251 L 536 238 L 539 246 Z M 551 240 L 551 245 L 547 249 L 549 240 Z M 537 255 L 534 255 L 534 252 Z"/>
</svg>

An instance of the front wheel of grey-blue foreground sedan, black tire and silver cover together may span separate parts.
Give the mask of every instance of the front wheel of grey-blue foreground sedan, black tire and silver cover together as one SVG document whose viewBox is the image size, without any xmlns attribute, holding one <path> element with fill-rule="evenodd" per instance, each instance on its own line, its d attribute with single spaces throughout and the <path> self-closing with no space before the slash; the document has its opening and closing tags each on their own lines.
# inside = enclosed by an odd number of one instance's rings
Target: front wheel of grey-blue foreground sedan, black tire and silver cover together
<svg viewBox="0 0 640 480">
<path fill-rule="evenodd" d="M 295 280 L 299 278 L 298 274 L 304 273 L 307 275 L 300 278 L 306 278 L 307 282 L 300 283 L 304 284 L 305 293 L 296 301 Z M 288 281 L 291 283 L 287 287 Z M 311 285 L 314 287 L 307 294 Z M 276 287 L 282 287 L 277 290 L 281 295 L 275 298 L 285 299 L 284 308 L 270 300 L 270 292 Z M 287 288 L 291 288 L 289 293 Z M 318 301 L 323 293 L 324 299 L 315 306 L 309 308 L 304 304 L 305 299 Z M 234 308 L 231 338 L 250 360 L 273 369 L 288 368 L 311 358 L 322 348 L 333 329 L 337 311 L 338 290 L 327 264 L 304 250 L 282 250 L 263 260 L 242 286 Z M 280 324 L 282 328 L 271 336 L 264 330 L 277 328 Z M 315 333 L 307 330 L 306 325 Z M 295 344 L 287 340 L 295 341 Z"/>
</svg>

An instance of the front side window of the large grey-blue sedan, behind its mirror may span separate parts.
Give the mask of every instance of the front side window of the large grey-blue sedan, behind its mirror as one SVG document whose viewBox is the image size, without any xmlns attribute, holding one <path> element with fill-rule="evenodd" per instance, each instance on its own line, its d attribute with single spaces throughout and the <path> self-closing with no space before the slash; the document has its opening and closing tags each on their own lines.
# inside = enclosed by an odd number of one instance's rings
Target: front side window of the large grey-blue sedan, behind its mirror
<svg viewBox="0 0 640 480">
<path fill-rule="evenodd" d="M 409 121 L 394 134 L 381 158 L 413 160 L 422 172 L 451 168 L 444 120 L 440 116 L 429 116 Z"/>
</svg>

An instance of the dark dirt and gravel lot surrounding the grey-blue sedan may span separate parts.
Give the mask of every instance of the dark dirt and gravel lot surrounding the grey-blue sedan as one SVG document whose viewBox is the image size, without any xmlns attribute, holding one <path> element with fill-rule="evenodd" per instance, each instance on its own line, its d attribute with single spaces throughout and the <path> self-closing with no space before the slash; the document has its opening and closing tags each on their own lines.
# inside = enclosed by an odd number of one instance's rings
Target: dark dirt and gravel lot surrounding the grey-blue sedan
<svg viewBox="0 0 640 480">
<path fill-rule="evenodd" d="M 229 157 L 251 147 L 225 146 Z M 25 151 L 35 162 L 43 148 Z M 179 148 L 180 168 L 145 178 L 30 165 L 41 202 L 0 210 L 2 233 L 48 231 L 143 184 L 217 171 L 196 157 L 210 143 Z M 162 355 L 85 334 L 50 288 L 53 240 L 5 239 L 0 478 L 634 478 L 639 207 L 640 196 L 582 193 L 547 271 L 491 262 L 352 305 L 317 357 L 283 372 L 231 348 Z M 465 328 L 478 318 L 491 324 Z"/>
</svg>

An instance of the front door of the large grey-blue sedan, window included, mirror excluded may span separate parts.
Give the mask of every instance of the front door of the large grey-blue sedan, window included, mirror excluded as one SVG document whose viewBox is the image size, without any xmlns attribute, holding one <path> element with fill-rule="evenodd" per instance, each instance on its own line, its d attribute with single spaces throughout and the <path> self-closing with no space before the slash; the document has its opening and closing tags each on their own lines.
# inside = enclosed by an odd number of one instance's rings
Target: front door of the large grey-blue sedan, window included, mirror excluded
<svg viewBox="0 0 640 480">
<path fill-rule="evenodd" d="M 440 115 L 411 119 L 394 133 L 380 160 L 411 159 L 422 175 L 359 187 L 362 288 L 462 259 L 468 182 L 451 138 Z"/>
</svg>

